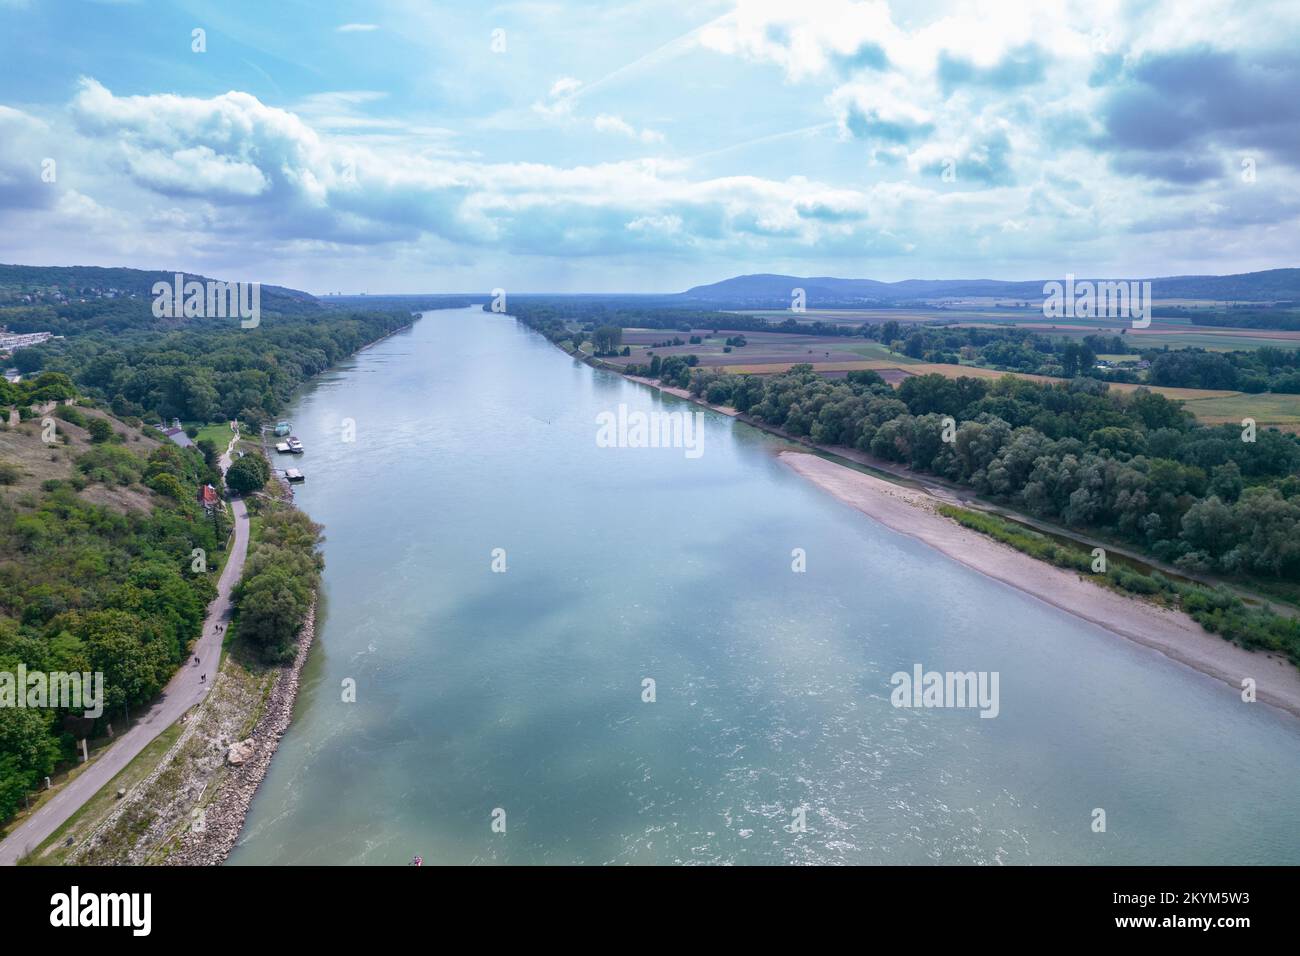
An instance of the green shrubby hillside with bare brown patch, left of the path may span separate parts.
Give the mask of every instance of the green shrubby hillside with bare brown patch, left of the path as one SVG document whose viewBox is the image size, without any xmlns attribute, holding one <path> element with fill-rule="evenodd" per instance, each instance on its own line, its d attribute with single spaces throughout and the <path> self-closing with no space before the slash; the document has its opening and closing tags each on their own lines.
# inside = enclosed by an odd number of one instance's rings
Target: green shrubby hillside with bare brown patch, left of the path
<svg viewBox="0 0 1300 956">
<path fill-rule="evenodd" d="M 221 483 L 211 442 L 181 449 L 86 405 L 34 418 L 31 402 L 72 394 L 56 375 L 3 390 L 23 420 L 0 420 L 0 672 L 98 671 L 104 698 L 98 719 L 53 701 L 0 706 L 0 827 L 75 766 L 78 737 L 121 732 L 186 659 L 230 529 L 198 502 Z"/>
</svg>

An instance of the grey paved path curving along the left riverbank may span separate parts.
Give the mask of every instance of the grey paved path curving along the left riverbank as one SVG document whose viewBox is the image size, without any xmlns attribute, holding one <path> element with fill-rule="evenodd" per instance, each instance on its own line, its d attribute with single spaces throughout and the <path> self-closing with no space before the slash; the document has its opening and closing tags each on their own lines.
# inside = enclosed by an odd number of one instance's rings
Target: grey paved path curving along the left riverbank
<svg viewBox="0 0 1300 956">
<path fill-rule="evenodd" d="M 222 473 L 230 467 L 230 449 L 234 442 L 235 440 L 231 438 L 230 446 L 221 455 Z M 12 866 L 18 862 L 22 855 L 39 847 L 87 800 L 107 787 L 153 737 L 176 723 L 185 711 L 207 696 L 208 688 L 212 687 L 212 682 L 217 676 L 221 640 L 225 637 L 224 631 L 217 631 L 217 624 L 225 626 L 230 619 L 230 592 L 243 574 L 244 557 L 248 553 L 248 511 L 239 498 L 230 502 L 230 509 L 235 516 L 234 544 L 230 546 L 230 557 L 217 581 L 217 597 L 208 606 L 208 617 L 203 622 L 203 635 L 194 645 L 194 654 L 199 657 L 202 663 L 195 665 L 192 657 L 183 663 L 181 670 L 168 682 L 168 685 L 162 688 L 162 696 L 155 701 L 142 719 L 136 721 L 135 726 L 95 757 L 75 780 L 64 784 L 48 803 L 16 827 L 8 839 L 0 843 L 0 865 Z M 208 679 L 199 680 L 202 674 L 207 674 Z"/>
</svg>

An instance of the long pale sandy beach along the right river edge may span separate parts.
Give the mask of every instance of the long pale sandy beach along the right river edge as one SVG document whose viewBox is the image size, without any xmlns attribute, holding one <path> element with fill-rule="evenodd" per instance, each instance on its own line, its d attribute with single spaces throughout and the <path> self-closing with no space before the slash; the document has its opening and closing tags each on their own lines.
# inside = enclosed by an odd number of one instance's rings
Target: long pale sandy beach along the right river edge
<svg viewBox="0 0 1300 956">
<path fill-rule="evenodd" d="M 1300 670 L 1278 654 L 1245 650 L 1209 633 L 1182 611 L 1158 607 L 1098 587 L 1082 575 L 963 528 L 939 514 L 931 496 L 890 484 L 816 455 L 783 451 L 796 472 L 888 528 L 923 541 L 949 558 L 1069 611 L 1135 644 L 1217 678 L 1240 696 L 1253 678 L 1260 701 L 1300 717 Z"/>
</svg>

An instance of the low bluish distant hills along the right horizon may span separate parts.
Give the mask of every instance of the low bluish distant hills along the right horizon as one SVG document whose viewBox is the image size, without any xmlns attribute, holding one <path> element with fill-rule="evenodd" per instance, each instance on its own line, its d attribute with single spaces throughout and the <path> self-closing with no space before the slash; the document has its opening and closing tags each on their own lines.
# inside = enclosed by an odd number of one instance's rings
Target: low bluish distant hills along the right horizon
<svg viewBox="0 0 1300 956">
<path fill-rule="evenodd" d="M 829 276 L 736 276 L 722 282 L 688 289 L 676 298 L 681 304 L 789 308 L 794 289 L 802 289 L 810 308 L 831 306 L 889 306 L 920 299 L 996 297 L 1040 299 L 1043 285 L 1063 276 L 1005 282 L 993 278 L 909 278 L 879 282 L 874 278 Z M 1083 276 L 1079 277 L 1084 278 Z M 1095 278 L 1093 281 L 1101 281 Z M 1217 299 L 1228 302 L 1275 302 L 1300 298 L 1300 269 L 1269 269 L 1238 276 L 1166 276 L 1150 278 L 1157 299 Z"/>
</svg>

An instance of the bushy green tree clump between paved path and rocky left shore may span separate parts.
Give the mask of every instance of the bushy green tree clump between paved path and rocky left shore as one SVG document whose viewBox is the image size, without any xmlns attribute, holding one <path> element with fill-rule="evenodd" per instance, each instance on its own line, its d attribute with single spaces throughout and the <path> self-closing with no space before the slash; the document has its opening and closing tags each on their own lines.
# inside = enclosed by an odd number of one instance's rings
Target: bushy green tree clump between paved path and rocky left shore
<svg viewBox="0 0 1300 956">
<path fill-rule="evenodd" d="M 321 525 L 294 507 L 257 503 L 257 540 L 235 587 L 235 633 L 265 661 L 287 663 L 296 653 L 298 632 L 320 585 L 325 558 Z"/>
</svg>

